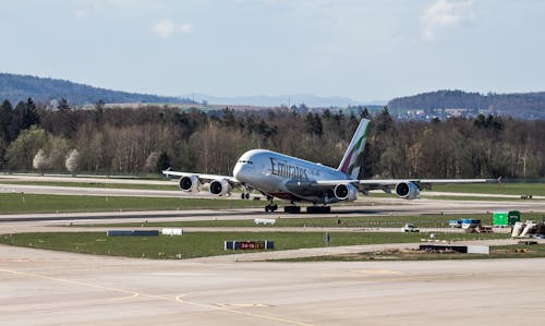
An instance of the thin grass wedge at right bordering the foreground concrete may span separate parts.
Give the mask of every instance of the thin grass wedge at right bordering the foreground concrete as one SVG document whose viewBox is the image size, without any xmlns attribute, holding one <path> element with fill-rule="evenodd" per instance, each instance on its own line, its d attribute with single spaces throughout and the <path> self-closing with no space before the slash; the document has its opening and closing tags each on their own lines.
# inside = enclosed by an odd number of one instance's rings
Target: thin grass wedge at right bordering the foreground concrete
<svg viewBox="0 0 545 326">
<path fill-rule="evenodd" d="M 524 250 L 524 252 L 523 252 Z M 420 251 L 385 251 L 331 256 L 281 259 L 282 262 L 367 262 L 367 261 L 437 261 L 437 259 L 505 259 L 545 257 L 545 244 L 493 245 L 491 254 L 426 253 Z"/>
</svg>

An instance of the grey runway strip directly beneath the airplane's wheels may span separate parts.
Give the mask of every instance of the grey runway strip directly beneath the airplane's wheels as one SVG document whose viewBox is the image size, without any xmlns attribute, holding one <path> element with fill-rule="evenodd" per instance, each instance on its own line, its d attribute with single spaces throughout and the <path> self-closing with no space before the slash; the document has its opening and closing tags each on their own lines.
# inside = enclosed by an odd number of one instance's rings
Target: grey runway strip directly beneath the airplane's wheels
<svg viewBox="0 0 545 326">
<path fill-rule="evenodd" d="M 355 216 L 416 216 L 429 214 L 492 214 L 494 210 L 545 212 L 545 202 L 479 202 L 398 198 L 372 198 L 356 206 L 332 206 L 330 214 L 265 213 L 262 208 L 186 209 L 152 212 L 53 213 L 0 215 L 0 234 L 48 231 L 50 227 L 81 224 L 120 224 L 145 221 L 228 220 L 255 218 L 315 218 Z"/>
</svg>

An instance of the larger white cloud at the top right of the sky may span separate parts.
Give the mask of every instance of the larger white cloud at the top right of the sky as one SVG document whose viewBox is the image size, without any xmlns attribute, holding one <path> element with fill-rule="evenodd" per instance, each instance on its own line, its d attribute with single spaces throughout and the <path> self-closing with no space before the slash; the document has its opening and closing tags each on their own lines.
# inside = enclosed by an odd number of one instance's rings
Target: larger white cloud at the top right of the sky
<svg viewBox="0 0 545 326">
<path fill-rule="evenodd" d="M 428 41 L 435 40 L 437 34 L 473 19 L 472 1 L 438 0 L 429 5 L 422 16 L 422 35 Z"/>
</svg>

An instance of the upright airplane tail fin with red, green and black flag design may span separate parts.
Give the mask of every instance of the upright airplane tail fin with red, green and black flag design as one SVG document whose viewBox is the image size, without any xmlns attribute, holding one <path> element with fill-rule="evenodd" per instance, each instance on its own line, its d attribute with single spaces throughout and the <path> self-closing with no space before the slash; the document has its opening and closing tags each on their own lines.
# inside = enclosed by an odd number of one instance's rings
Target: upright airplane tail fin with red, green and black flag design
<svg viewBox="0 0 545 326">
<path fill-rule="evenodd" d="M 342 160 L 337 170 L 344 172 L 350 179 L 359 179 L 360 169 L 363 164 L 363 149 L 370 134 L 370 120 L 362 119 L 355 130 L 354 136 L 348 146 Z"/>
</svg>

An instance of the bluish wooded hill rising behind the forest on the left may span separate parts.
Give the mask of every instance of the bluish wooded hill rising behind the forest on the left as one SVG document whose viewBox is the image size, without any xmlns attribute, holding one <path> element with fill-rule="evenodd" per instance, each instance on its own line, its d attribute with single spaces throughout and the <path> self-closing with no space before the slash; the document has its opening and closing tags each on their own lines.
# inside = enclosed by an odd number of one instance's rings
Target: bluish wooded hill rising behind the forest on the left
<svg viewBox="0 0 545 326">
<path fill-rule="evenodd" d="M 32 97 L 37 102 L 49 102 L 65 98 L 71 105 L 119 102 L 181 102 L 191 104 L 190 99 L 166 97 L 152 94 L 137 94 L 93 87 L 70 81 L 43 79 L 31 75 L 0 73 L 0 101 L 9 99 L 13 105 Z"/>
</svg>

